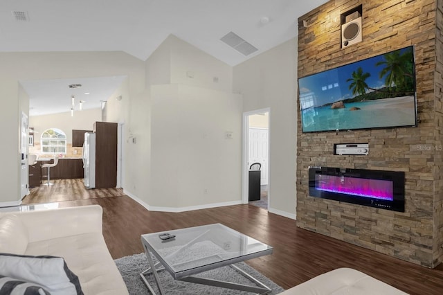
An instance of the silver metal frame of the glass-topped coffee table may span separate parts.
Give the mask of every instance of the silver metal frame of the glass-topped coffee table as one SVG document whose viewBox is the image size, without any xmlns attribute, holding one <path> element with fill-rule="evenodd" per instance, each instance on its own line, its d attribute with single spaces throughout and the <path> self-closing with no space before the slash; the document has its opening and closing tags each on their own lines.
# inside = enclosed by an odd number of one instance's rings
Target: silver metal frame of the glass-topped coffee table
<svg viewBox="0 0 443 295">
<path fill-rule="evenodd" d="M 252 239 L 252 238 L 248 237 L 247 235 L 244 235 L 242 233 L 234 231 L 233 229 L 230 229 L 227 226 L 224 226 L 222 224 L 209 224 L 207 226 L 196 226 L 194 228 L 168 231 L 168 233 L 179 236 L 182 233 L 184 233 L 184 231 L 188 231 L 189 229 L 199 229 L 199 230 L 201 229 L 200 235 L 197 235 L 197 237 L 190 240 L 186 244 L 181 245 L 181 248 L 178 251 L 175 251 L 174 253 L 170 254 L 168 256 L 168 258 L 174 257 L 174 256 L 178 255 L 179 253 L 183 253 L 183 251 L 186 251 L 189 247 L 192 246 L 192 244 L 195 244 L 195 242 L 198 242 L 201 239 L 204 240 L 205 235 L 210 232 L 211 226 L 217 226 L 218 230 L 221 229 L 222 231 L 226 231 L 226 233 L 235 233 L 236 235 L 238 235 L 239 238 Z M 145 255 L 147 257 L 150 267 L 148 269 L 146 269 L 145 271 L 143 271 L 140 274 L 140 276 L 143 279 L 143 282 L 145 283 L 147 288 L 150 290 L 150 292 L 153 295 L 155 295 L 156 293 L 154 292 L 154 289 L 152 288 L 150 283 L 147 282 L 147 279 L 145 278 L 145 276 L 147 276 L 149 274 L 153 274 L 154 280 L 155 280 L 156 285 L 159 289 L 159 293 L 165 294 L 163 291 L 163 287 L 161 285 L 159 274 L 158 274 L 158 271 L 163 271 L 163 270 L 168 271 L 172 275 L 172 278 L 174 278 L 174 280 L 182 280 L 182 281 L 190 282 L 190 283 L 197 283 L 197 284 L 201 284 L 201 285 L 210 285 L 210 286 L 215 286 L 215 287 L 223 287 L 223 288 L 228 288 L 228 289 L 237 289 L 237 290 L 245 291 L 245 292 L 254 292 L 256 294 L 269 294 L 272 291 L 271 288 L 264 285 L 263 283 L 261 283 L 259 280 L 257 280 L 256 278 L 254 278 L 250 274 L 246 273 L 246 271 L 243 271 L 242 269 L 239 269 L 239 267 L 234 265 L 237 262 L 242 262 L 244 260 L 257 258 L 257 257 L 264 256 L 264 255 L 269 255 L 273 251 L 272 247 L 255 240 L 256 242 L 258 242 L 262 246 L 264 246 L 266 249 L 260 249 L 260 251 L 251 251 L 251 253 L 243 253 L 242 255 L 233 256 L 228 259 L 221 258 L 221 256 L 219 256 L 218 254 L 214 254 L 211 256 L 205 256 L 205 257 L 197 258 L 196 260 L 193 260 L 193 262 L 198 262 L 199 260 L 201 260 L 201 261 L 207 260 L 208 258 L 216 258 L 219 261 L 217 261 L 215 263 L 211 262 L 209 264 L 204 264 L 204 262 L 203 262 L 198 267 L 192 267 L 190 269 L 184 269 L 182 271 L 175 271 L 174 267 L 177 267 L 177 265 L 174 265 L 174 266 L 169 265 L 169 263 L 165 260 L 163 255 L 158 253 L 156 251 L 156 249 L 152 246 L 152 244 L 150 244 L 149 240 L 147 239 L 148 236 L 151 236 L 151 238 L 152 238 L 152 236 L 155 235 L 157 237 L 159 234 L 161 234 L 161 233 L 150 233 L 147 235 L 141 235 L 141 242 L 143 244 L 143 248 L 145 249 Z M 153 256 L 155 256 L 155 258 L 157 258 L 157 260 L 159 260 L 159 262 L 156 262 L 154 264 L 151 254 Z M 188 262 L 183 262 L 182 265 L 184 265 L 186 263 L 188 263 Z M 237 271 L 239 274 L 242 274 L 242 276 L 244 276 L 245 278 L 248 278 L 248 280 L 251 280 L 251 282 L 255 283 L 256 285 L 255 286 L 244 285 L 244 284 L 226 282 L 223 280 L 215 280 L 215 279 L 211 279 L 211 278 L 201 278 L 201 277 L 193 276 L 195 274 L 200 274 L 204 271 L 208 271 L 211 269 L 217 269 L 219 267 L 224 267 L 224 266 L 229 266 L 229 267 L 235 269 L 235 271 Z"/>
</svg>

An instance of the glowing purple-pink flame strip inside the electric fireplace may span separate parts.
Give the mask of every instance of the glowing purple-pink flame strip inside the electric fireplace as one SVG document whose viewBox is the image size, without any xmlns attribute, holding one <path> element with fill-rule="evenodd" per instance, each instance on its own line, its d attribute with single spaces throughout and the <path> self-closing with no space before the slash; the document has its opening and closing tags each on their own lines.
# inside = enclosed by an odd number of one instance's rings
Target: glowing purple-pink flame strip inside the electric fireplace
<svg viewBox="0 0 443 295">
<path fill-rule="evenodd" d="M 333 175 L 316 175 L 316 189 L 375 199 L 394 199 L 392 181 Z"/>
</svg>

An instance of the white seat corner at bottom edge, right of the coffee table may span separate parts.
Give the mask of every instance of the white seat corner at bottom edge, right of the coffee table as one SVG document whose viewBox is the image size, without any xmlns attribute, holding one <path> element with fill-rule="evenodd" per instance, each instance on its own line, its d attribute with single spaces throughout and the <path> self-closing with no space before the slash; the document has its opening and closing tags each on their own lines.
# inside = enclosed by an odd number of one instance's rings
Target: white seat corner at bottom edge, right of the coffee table
<svg viewBox="0 0 443 295">
<path fill-rule="evenodd" d="M 347 267 L 320 274 L 280 295 L 408 295 L 386 283 Z"/>
</svg>

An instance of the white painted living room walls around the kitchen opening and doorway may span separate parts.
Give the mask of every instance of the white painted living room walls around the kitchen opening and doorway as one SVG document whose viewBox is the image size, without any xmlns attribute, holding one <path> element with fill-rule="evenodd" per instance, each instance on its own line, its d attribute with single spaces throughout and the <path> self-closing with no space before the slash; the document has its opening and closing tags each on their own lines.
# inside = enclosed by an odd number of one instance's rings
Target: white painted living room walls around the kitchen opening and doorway
<svg viewBox="0 0 443 295">
<path fill-rule="evenodd" d="M 146 62 L 120 52 L 0 53 L 1 134 L 18 139 L 19 80 L 127 75 L 115 93 L 123 100 L 107 105 L 109 120 L 126 126 L 123 188 L 153 209 L 181 211 L 241 202 L 242 111 L 270 107 L 271 211 L 295 214 L 295 55 L 291 40 L 233 69 L 173 36 Z M 15 157 L 4 158 L 0 203 L 19 195 L 17 150 L 18 140 L 1 145 Z"/>
</svg>

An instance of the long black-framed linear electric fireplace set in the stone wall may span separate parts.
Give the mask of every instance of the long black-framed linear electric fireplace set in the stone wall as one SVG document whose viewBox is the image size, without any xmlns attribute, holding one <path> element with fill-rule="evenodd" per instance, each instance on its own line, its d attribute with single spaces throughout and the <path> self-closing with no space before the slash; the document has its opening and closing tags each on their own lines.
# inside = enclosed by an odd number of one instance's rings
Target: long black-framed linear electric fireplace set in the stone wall
<svg viewBox="0 0 443 295">
<path fill-rule="evenodd" d="M 404 172 L 310 167 L 309 195 L 404 212 Z"/>
</svg>

